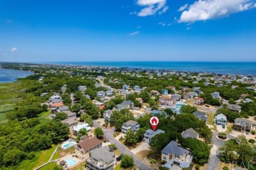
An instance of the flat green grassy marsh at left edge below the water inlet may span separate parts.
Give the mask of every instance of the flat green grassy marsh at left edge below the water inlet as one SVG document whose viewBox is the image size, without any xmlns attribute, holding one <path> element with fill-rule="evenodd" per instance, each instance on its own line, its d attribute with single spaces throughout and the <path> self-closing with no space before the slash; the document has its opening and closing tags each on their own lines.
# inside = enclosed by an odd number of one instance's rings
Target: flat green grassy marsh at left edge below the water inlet
<svg viewBox="0 0 256 170">
<path fill-rule="evenodd" d="M 18 81 L 0 83 L 0 124 L 8 121 L 6 114 L 14 110 L 15 103 L 20 99 L 20 85 Z"/>
</svg>

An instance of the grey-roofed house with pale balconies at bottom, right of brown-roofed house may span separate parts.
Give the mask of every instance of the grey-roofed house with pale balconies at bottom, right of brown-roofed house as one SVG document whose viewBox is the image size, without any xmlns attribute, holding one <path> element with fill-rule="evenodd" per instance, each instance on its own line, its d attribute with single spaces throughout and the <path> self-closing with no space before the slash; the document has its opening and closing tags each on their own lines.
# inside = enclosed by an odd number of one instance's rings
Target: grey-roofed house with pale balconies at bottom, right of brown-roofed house
<svg viewBox="0 0 256 170">
<path fill-rule="evenodd" d="M 110 152 L 108 146 L 95 149 L 90 152 L 90 158 L 87 159 L 86 167 L 90 170 L 112 170 L 114 169 L 115 157 L 114 152 Z"/>
</svg>

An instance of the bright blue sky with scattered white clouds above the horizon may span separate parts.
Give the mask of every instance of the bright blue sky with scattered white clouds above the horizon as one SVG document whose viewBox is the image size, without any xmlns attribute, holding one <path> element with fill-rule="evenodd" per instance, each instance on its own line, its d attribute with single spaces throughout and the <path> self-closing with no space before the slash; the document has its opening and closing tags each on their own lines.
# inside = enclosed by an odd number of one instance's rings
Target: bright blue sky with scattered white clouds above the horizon
<svg viewBox="0 0 256 170">
<path fill-rule="evenodd" d="M 113 60 L 256 61 L 256 1 L 0 1 L 0 61 Z"/>
</svg>

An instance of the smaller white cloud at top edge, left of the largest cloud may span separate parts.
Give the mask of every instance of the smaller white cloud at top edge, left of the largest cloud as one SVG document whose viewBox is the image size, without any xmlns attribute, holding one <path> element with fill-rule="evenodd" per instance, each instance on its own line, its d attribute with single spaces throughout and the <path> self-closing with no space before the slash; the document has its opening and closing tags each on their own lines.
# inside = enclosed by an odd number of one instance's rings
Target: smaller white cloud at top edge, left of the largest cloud
<svg viewBox="0 0 256 170">
<path fill-rule="evenodd" d="M 144 7 L 137 15 L 148 16 L 154 15 L 156 12 L 163 14 L 168 10 L 165 4 L 166 0 L 137 0 L 137 5 Z"/>
</svg>

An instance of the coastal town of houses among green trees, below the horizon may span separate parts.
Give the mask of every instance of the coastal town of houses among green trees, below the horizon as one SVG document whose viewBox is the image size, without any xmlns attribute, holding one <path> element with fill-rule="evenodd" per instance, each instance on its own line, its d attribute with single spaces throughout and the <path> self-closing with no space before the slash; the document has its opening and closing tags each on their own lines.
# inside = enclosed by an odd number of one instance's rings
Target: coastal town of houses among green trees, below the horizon
<svg viewBox="0 0 256 170">
<path fill-rule="evenodd" d="M 7 126 L 13 122 L 27 128 L 44 121 L 61 129 L 43 127 L 47 123 L 37 128 L 35 133 L 53 140 L 42 140 L 49 144 L 41 150 L 53 144 L 55 148 L 33 169 L 256 167 L 255 75 L 60 64 L 0 66 L 33 72 L 18 79 L 23 83 L 21 101 L 7 112 L 9 123 L 0 124 L 5 141 L 0 169 L 15 169 L 36 151 L 7 142 Z M 152 116 L 159 119 L 156 129 L 150 125 Z M 30 121 L 38 122 L 24 125 Z M 40 143 L 33 137 L 31 141 Z M 11 151 L 23 154 L 7 156 L 10 145 Z"/>
</svg>

